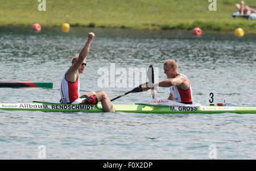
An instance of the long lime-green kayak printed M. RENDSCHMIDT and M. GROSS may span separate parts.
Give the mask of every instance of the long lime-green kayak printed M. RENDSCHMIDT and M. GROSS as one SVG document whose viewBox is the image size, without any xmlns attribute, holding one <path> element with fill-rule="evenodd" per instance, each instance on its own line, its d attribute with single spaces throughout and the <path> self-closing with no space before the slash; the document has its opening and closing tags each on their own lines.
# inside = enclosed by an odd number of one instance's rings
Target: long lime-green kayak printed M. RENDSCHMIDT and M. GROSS
<svg viewBox="0 0 256 171">
<path fill-rule="evenodd" d="M 164 105 L 113 105 L 115 112 L 134 112 L 134 113 L 154 113 L 154 114 L 256 114 L 256 107 L 238 106 L 164 106 Z M 43 111 L 43 112 L 104 112 L 100 104 L 97 105 L 71 105 L 49 102 L 32 103 L 0 103 L 0 110 L 24 110 L 24 111 Z"/>
</svg>

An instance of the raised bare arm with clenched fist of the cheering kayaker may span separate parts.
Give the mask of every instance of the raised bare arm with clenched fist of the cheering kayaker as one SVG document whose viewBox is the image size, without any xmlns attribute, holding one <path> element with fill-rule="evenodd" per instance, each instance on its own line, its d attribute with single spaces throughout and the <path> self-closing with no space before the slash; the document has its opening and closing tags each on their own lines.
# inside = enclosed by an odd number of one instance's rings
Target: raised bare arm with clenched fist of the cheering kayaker
<svg viewBox="0 0 256 171">
<path fill-rule="evenodd" d="M 79 68 L 89 53 L 90 43 L 92 42 L 94 36 L 95 35 L 93 34 L 93 32 L 90 32 L 88 34 L 88 40 L 86 41 L 84 48 L 82 48 L 81 52 L 79 53 L 79 57 L 66 73 L 66 79 L 68 81 L 75 82 L 77 80 L 77 77 L 79 76 Z"/>
</svg>

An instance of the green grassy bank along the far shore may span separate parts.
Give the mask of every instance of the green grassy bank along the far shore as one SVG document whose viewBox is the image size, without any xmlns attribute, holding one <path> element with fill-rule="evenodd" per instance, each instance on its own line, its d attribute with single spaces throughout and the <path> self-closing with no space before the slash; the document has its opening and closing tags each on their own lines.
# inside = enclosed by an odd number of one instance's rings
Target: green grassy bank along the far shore
<svg viewBox="0 0 256 171">
<path fill-rule="evenodd" d="M 255 0 L 246 0 L 255 5 Z M 37 0 L 1 0 L 1 26 L 111 27 L 150 30 L 234 31 L 242 27 L 256 32 L 256 20 L 232 19 L 238 0 L 217 0 L 217 11 L 209 11 L 208 0 L 46 0 L 39 11 Z"/>
</svg>

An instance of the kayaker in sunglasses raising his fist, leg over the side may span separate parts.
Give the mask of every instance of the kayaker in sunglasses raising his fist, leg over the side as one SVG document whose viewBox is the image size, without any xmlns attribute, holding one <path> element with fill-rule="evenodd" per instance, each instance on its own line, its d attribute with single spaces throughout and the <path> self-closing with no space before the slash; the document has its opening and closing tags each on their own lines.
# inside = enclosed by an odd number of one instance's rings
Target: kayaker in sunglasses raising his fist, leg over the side
<svg viewBox="0 0 256 171">
<path fill-rule="evenodd" d="M 88 40 L 82 48 L 81 52 L 73 57 L 72 65 L 69 67 L 67 72 L 64 74 L 61 80 L 60 94 L 61 99 L 60 103 L 69 103 L 76 105 L 96 105 L 98 102 L 101 102 L 102 108 L 105 112 L 114 112 L 112 102 L 110 101 L 108 95 L 101 91 L 95 93 L 90 91 L 88 94 L 80 96 L 80 74 L 84 73 L 86 66 L 86 56 L 89 53 L 90 43 L 93 40 L 95 35 L 93 32 L 88 34 Z"/>
</svg>

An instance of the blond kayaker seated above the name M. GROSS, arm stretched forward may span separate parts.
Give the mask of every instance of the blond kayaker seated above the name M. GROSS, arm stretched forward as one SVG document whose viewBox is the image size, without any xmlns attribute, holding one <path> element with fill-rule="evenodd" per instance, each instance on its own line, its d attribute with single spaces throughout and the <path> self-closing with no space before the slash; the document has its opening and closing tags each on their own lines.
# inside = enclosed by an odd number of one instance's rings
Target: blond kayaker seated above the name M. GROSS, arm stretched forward
<svg viewBox="0 0 256 171">
<path fill-rule="evenodd" d="M 170 87 L 170 96 L 168 100 L 185 104 L 192 104 L 191 83 L 184 74 L 177 71 L 177 63 L 175 60 L 167 60 L 164 62 L 164 73 L 168 80 L 164 80 L 155 84 L 157 87 Z"/>
</svg>

